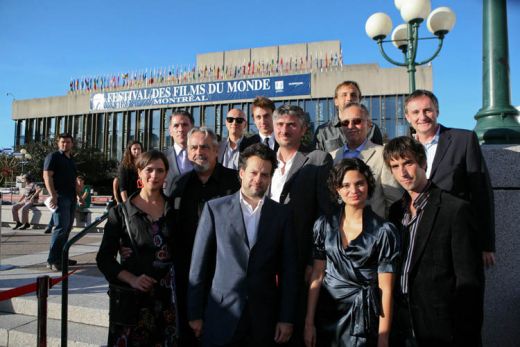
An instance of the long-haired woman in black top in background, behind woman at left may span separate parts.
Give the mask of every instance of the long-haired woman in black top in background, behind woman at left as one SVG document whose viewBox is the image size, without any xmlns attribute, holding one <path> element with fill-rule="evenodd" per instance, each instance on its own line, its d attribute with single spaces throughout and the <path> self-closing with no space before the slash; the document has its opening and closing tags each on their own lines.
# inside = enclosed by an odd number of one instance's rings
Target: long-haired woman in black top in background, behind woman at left
<svg viewBox="0 0 520 347">
<path fill-rule="evenodd" d="M 143 145 L 139 141 L 130 141 L 126 145 L 123 160 L 118 169 L 119 191 L 123 202 L 140 187 L 137 185 L 137 170 L 135 163 L 143 151 Z"/>
</svg>

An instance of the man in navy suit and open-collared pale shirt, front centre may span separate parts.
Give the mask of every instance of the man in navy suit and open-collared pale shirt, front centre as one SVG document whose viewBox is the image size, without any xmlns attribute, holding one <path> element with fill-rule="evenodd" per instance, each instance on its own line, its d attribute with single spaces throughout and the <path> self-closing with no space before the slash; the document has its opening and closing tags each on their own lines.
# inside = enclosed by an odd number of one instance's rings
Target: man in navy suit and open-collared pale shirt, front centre
<svg viewBox="0 0 520 347">
<path fill-rule="evenodd" d="M 290 215 L 265 196 L 277 165 L 264 145 L 240 155 L 240 191 L 209 201 L 190 267 L 188 316 L 204 346 L 287 342 L 296 316 Z M 278 276 L 278 281 L 277 281 Z"/>
</svg>

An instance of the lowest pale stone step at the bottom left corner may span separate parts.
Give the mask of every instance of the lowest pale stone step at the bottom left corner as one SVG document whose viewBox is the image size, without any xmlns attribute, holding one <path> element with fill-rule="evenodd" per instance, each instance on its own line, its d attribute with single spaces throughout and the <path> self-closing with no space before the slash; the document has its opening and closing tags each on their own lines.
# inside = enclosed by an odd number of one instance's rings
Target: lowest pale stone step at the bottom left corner
<svg viewBox="0 0 520 347">
<path fill-rule="evenodd" d="M 37 345 L 37 319 L 34 316 L 0 313 L 0 346 L 26 347 Z M 106 346 L 108 328 L 69 322 L 67 346 Z M 47 346 L 61 345 L 61 321 L 47 320 Z"/>
</svg>

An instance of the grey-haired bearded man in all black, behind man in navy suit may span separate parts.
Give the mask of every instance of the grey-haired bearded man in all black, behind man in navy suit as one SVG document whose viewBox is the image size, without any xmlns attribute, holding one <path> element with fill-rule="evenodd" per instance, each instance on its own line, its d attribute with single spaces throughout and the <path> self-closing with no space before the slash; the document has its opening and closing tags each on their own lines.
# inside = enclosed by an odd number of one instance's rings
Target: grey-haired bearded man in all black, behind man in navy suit
<svg viewBox="0 0 520 347">
<path fill-rule="evenodd" d="M 186 294 L 191 251 L 202 207 L 207 201 L 235 193 L 240 188 L 237 171 L 217 163 L 218 147 L 217 136 L 212 130 L 205 127 L 190 130 L 188 158 L 193 170 L 178 178 L 170 196 L 177 225 L 171 247 L 176 264 L 181 346 L 198 345 L 187 323 Z"/>
</svg>

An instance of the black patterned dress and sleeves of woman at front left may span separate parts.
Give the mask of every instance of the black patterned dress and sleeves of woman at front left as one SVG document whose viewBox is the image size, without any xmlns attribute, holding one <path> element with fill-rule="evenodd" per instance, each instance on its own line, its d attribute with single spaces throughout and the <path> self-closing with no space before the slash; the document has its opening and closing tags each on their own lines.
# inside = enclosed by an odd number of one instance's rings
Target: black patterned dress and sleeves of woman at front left
<svg viewBox="0 0 520 347">
<path fill-rule="evenodd" d="M 133 197 L 133 196 L 132 196 Z M 132 324 L 109 325 L 108 346 L 178 346 L 178 315 L 176 309 L 175 278 L 172 264 L 171 242 L 172 218 L 168 203 L 159 220 L 151 222 L 146 214 L 135 207 L 130 197 L 126 202 L 130 231 L 136 245 L 132 255 L 121 262 L 116 261 L 120 243 L 131 247 L 125 230 L 122 206 L 111 209 L 103 240 L 97 255 L 97 264 L 110 283 L 127 286 L 117 279 L 122 270 L 136 276 L 146 274 L 157 283 L 148 293 L 140 293 Z M 137 254 L 136 254 L 137 253 Z"/>
</svg>

